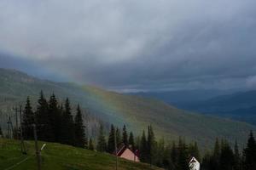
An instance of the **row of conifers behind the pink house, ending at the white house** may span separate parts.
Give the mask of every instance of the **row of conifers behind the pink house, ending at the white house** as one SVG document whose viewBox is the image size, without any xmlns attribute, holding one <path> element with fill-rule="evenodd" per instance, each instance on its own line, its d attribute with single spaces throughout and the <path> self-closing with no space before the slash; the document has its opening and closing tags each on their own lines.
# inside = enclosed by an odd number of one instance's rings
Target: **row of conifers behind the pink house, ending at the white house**
<svg viewBox="0 0 256 170">
<path fill-rule="evenodd" d="M 125 125 L 122 130 L 111 125 L 108 138 L 104 133 L 103 126 L 101 126 L 96 150 L 110 154 L 115 153 L 115 140 L 118 148 L 125 145 L 133 152 L 138 150 L 140 161 L 166 169 L 189 170 L 189 156 L 200 157 L 196 142 L 186 144 L 182 138 L 178 140 L 177 144 L 175 142 L 166 144 L 164 139 L 157 142 L 152 126 L 148 126 L 147 133 L 143 131 L 141 136 L 135 137 L 132 132 L 127 132 Z M 90 149 L 94 150 L 94 147 L 92 146 Z"/>
</svg>

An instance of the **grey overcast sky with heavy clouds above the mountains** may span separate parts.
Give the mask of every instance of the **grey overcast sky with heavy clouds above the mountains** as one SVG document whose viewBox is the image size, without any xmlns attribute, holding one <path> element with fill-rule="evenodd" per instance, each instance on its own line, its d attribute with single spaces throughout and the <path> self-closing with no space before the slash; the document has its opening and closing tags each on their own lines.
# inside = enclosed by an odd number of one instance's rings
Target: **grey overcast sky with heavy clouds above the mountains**
<svg viewBox="0 0 256 170">
<path fill-rule="evenodd" d="M 255 7 L 255 0 L 1 0 L 0 67 L 123 91 L 253 88 Z"/>
</svg>

